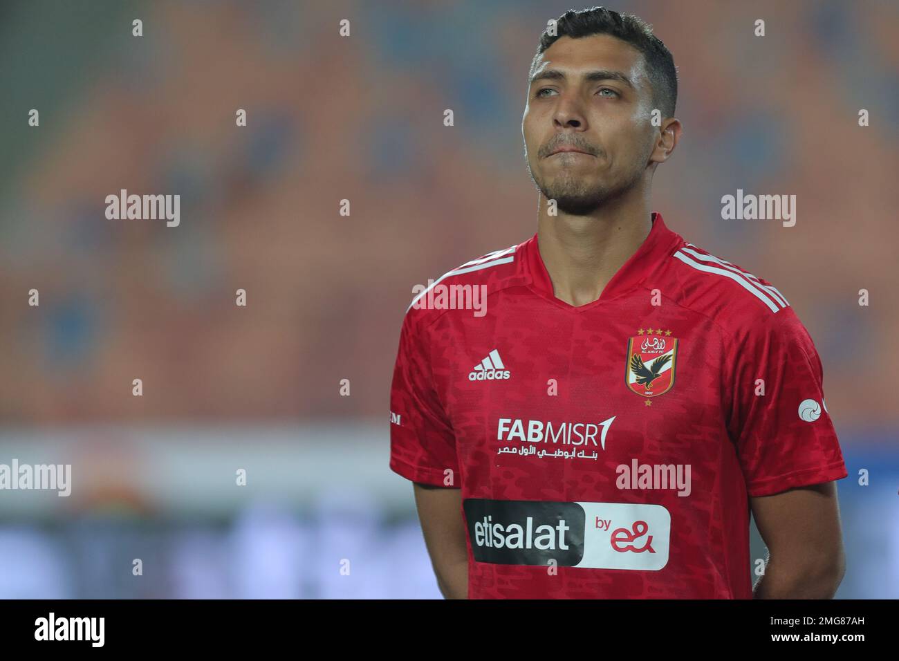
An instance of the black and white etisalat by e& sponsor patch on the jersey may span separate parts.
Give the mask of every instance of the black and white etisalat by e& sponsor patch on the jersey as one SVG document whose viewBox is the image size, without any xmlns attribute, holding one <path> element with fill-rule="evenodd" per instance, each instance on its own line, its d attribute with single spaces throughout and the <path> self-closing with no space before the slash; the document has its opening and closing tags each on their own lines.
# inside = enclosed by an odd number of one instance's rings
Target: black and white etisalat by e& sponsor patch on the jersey
<svg viewBox="0 0 899 661">
<path fill-rule="evenodd" d="M 657 571 L 668 564 L 671 514 L 662 505 L 466 498 L 477 562 Z"/>
</svg>

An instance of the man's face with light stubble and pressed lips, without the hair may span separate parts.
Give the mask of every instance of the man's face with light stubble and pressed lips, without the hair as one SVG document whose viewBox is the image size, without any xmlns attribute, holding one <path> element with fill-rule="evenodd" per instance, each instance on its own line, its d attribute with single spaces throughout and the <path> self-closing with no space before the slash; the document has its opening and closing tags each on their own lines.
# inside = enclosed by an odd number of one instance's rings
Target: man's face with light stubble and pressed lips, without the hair
<svg viewBox="0 0 899 661">
<path fill-rule="evenodd" d="M 531 179 L 558 210 L 589 213 L 645 174 L 652 110 L 638 50 L 605 34 L 560 38 L 534 67 L 521 121 Z"/>
</svg>

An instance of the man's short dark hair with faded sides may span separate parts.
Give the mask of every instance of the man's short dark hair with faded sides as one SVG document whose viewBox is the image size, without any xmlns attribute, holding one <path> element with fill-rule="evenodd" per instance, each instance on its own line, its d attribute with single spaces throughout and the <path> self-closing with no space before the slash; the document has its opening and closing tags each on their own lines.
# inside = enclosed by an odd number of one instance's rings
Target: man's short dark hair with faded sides
<svg viewBox="0 0 899 661">
<path fill-rule="evenodd" d="M 653 26 L 632 13 L 613 12 L 605 7 L 591 7 L 579 12 L 568 10 L 556 19 L 556 34 L 549 34 L 549 26 L 540 35 L 537 55 L 530 64 L 530 73 L 540 55 L 561 37 L 589 37 L 593 34 L 610 34 L 627 41 L 639 50 L 646 62 L 649 82 L 653 86 L 654 107 L 665 117 L 674 116 L 677 106 L 677 69 L 674 58 L 658 37 Z"/>
</svg>

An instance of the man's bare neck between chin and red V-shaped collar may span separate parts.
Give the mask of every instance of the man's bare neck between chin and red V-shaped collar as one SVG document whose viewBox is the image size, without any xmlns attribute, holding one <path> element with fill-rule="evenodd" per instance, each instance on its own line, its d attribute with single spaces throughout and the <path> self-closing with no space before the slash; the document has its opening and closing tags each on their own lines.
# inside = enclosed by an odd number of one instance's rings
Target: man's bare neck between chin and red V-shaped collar
<svg viewBox="0 0 899 661">
<path fill-rule="evenodd" d="M 649 236 L 649 201 L 621 201 L 589 216 L 547 214 L 543 195 L 537 240 L 557 299 L 582 306 L 600 298 L 612 276 Z"/>
</svg>

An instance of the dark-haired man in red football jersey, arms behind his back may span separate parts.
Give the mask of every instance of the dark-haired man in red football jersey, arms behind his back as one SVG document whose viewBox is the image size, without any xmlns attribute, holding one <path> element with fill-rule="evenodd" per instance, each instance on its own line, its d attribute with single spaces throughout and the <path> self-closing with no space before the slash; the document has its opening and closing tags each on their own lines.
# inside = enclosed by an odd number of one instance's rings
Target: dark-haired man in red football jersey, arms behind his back
<svg viewBox="0 0 899 661">
<path fill-rule="evenodd" d="M 650 213 L 681 137 L 676 96 L 645 23 L 563 14 L 521 127 L 536 236 L 406 313 L 390 468 L 414 481 L 447 598 L 831 598 L 840 584 L 847 471 L 811 338 L 770 282 Z M 485 310 L 428 305 L 453 286 L 483 287 Z M 754 589 L 750 510 L 769 549 Z"/>
</svg>

